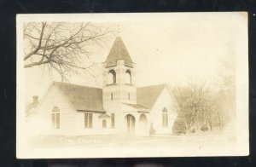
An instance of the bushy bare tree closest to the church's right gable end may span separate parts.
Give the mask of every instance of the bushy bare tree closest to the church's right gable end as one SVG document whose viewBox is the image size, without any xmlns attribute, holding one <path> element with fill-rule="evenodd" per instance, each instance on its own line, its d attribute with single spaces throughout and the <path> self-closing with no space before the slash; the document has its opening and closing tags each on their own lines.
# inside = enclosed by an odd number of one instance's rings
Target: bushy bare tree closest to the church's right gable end
<svg viewBox="0 0 256 167">
<path fill-rule="evenodd" d="M 177 87 L 173 92 L 179 118 L 186 125 L 187 132 L 201 129 L 203 126 L 208 126 L 212 130 L 213 110 L 217 104 L 205 83 Z"/>
</svg>

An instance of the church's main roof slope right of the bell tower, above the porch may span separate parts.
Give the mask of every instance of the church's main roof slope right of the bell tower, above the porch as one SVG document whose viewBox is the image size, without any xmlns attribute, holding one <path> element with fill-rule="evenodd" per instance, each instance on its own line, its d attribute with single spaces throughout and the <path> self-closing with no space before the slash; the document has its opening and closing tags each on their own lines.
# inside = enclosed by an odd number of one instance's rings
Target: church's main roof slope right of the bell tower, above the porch
<svg viewBox="0 0 256 167">
<path fill-rule="evenodd" d="M 137 103 L 152 109 L 164 88 L 167 88 L 166 84 L 137 88 Z M 167 90 L 169 91 L 169 89 Z"/>
</svg>

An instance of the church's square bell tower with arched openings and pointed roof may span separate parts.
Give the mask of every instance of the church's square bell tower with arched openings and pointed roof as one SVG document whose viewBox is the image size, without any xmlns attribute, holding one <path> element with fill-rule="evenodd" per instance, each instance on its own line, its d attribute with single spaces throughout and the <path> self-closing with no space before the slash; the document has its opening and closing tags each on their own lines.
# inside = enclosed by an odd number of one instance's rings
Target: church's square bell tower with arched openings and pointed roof
<svg viewBox="0 0 256 167">
<path fill-rule="evenodd" d="M 103 63 L 103 105 L 106 109 L 120 109 L 122 103 L 137 103 L 135 76 L 135 63 L 121 37 L 116 37 Z"/>
</svg>

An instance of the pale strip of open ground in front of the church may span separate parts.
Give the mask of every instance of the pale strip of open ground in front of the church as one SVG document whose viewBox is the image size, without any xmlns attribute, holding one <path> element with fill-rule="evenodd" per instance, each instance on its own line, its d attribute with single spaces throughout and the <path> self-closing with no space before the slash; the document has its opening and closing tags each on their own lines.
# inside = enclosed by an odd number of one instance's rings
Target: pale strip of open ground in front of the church
<svg viewBox="0 0 256 167">
<path fill-rule="evenodd" d="M 33 137 L 30 147 L 176 147 L 186 145 L 203 145 L 222 142 L 234 143 L 233 135 L 220 133 L 201 133 L 191 135 L 51 135 Z"/>
</svg>

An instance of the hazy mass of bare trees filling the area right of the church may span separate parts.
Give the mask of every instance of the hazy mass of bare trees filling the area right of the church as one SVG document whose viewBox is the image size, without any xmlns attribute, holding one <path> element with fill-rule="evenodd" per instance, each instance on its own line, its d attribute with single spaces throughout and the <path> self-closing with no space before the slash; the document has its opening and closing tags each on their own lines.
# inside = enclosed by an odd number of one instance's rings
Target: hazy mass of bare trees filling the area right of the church
<svg viewBox="0 0 256 167">
<path fill-rule="evenodd" d="M 233 56 L 233 55 L 230 55 Z M 177 124 L 186 132 L 198 129 L 224 130 L 236 122 L 236 61 L 223 61 L 215 76 L 214 90 L 205 83 L 192 83 L 173 89 L 177 101 Z M 213 87 L 212 87 L 213 88 Z M 179 127 L 177 129 L 180 129 Z"/>
</svg>

